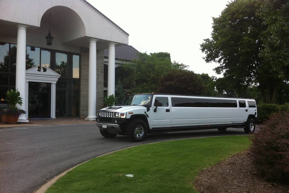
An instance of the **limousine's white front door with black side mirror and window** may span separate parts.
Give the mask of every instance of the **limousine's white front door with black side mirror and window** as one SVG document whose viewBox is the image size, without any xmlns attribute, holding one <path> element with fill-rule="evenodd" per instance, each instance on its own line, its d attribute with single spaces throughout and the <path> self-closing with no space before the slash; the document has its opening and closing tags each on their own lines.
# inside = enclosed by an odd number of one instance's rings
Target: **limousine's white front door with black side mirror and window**
<svg viewBox="0 0 289 193">
<path fill-rule="evenodd" d="M 156 109 L 156 102 L 160 102 L 161 106 Z M 156 110 L 154 110 L 156 109 Z M 154 112 L 156 111 L 156 112 Z M 171 104 L 167 96 L 154 96 L 151 109 L 151 127 L 170 127 L 171 125 Z"/>
</svg>

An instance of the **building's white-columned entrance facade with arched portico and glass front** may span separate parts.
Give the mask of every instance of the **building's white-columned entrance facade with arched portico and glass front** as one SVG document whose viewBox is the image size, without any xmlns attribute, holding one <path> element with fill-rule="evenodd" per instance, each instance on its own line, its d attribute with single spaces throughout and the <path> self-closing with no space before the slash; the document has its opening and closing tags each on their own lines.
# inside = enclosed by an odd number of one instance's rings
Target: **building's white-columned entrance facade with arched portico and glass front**
<svg viewBox="0 0 289 193">
<path fill-rule="evenodd" d="M 0 98 L 18 89 L 23 104 L 17 107 L 27 112 L 18 122 L 59 116 L 95 120 L 103 106 L 104 61 L 110 95 L 115 48 L 127 45 L 129 34 L 85 0 L 10 0 L 0 1 L 0 7 Z"/>
</svg>

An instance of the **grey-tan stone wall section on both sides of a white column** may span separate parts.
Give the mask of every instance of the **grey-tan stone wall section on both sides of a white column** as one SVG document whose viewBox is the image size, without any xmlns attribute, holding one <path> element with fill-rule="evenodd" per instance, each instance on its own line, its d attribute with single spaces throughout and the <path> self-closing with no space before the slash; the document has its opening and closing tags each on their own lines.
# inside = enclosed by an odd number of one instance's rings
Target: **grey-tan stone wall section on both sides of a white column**
<svg viewBox="0 0 289 193">
<path fill-rule="evenodd" d="M 89 74 L 89 49 L 82 48 L 80 53 L 80 102 L 79 116 L 88 115 L 88 74 Z M 103 79 L 104 79 L 104 54 L 103 50 L 96 52 L 96 109 L 103 106 Z"/>
</svg>

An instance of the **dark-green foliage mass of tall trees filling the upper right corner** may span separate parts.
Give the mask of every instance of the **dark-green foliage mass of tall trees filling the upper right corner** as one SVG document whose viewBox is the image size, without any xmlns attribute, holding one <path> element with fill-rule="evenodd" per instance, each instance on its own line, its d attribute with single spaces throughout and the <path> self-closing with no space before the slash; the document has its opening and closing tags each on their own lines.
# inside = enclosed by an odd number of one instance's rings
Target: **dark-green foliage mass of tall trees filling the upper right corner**
<svg viewBox="0 0 289 193">
<path fill-rule="evenodd" d="M 277 91 L 284 86 L 280 66 L 288 69 L 288 43 L 282 43 L 288 33 L 288 13 L 285 0 L 235 0 L 219 17 L 213 17 L 211 38 L 204 40 L 201 50 L 206 62 L 219 63 L 216 73 L 224 74 L 216 81 L 217 90 L 242 96 L 247 87 L 258 85 L 263 101 L 275 102 Z M 288 34 L 286 38 L 289 40 Z"/>
</svg>

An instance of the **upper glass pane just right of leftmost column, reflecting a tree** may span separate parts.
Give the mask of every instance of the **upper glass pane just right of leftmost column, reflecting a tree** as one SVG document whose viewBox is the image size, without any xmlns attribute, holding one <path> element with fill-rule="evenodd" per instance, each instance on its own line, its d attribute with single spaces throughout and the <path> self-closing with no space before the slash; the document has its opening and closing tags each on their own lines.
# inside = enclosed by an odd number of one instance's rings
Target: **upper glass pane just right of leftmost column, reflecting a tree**
<svg viewBox="0 0 289 193">
<path fill-rule="evenodd" d="M 40 64 L 40 48 L 26 46 L 26 70 Z"/>
</svg>

